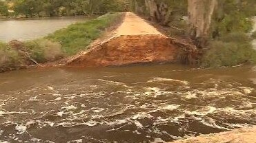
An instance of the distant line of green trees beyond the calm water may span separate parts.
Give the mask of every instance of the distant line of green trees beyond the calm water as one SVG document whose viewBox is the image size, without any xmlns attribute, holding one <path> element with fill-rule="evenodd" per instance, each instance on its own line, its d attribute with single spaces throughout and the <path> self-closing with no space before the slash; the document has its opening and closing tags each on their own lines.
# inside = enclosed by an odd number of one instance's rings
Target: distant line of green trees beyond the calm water
<svg viewBox="0 0 256 143">
<path fill-rule="evenodd" d="M 118 0 L 0 0 L 1 16 L 56 17 L 104 14 L 126 10 Z"/>
</svg>

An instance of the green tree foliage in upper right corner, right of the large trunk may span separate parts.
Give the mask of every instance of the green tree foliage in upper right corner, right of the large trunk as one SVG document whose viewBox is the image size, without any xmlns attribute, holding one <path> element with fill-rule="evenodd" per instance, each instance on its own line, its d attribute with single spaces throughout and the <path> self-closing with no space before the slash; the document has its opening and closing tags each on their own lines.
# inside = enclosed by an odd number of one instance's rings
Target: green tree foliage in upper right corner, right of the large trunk
<svg viewBox="0 0 256 143">
<path fill-rule="evenodd" d="M 219 1 L 213 17 L 211 32 L 213 39 L 218 39 L 230 32 L 250 32 L 253 23 L 250 17 L 256 14 L 254 0 Z"/>
</svg>

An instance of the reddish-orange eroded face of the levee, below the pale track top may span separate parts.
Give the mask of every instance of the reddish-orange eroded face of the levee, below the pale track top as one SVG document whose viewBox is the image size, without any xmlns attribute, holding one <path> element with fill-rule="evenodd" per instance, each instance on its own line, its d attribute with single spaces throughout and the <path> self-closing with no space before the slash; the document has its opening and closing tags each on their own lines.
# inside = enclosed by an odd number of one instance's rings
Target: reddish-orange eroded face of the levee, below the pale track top
<svg viewBox="0 0 256 143">
<path fill-rule="evenodd" d="M 69 59 L 68 67 L 118 66 L 177 61 L 177 46 L 160 34 L 122 35 Z"/>
</svg>

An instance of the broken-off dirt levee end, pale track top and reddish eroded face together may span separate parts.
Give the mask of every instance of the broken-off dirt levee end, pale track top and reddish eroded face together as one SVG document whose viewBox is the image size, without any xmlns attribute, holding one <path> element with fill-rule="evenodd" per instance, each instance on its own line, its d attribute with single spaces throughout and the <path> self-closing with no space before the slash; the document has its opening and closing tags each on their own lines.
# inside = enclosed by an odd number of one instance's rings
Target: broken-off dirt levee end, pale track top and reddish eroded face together
<svg viewBox="0 0 256 143">
<path fill-rule="evenodd" d="M 132 12 L 110 39 L 91 45 L 86 52 L 68 59 L 68 67 L 97 67 L 132 63 L 174 62 L 177 46 Z"/>
</svg>

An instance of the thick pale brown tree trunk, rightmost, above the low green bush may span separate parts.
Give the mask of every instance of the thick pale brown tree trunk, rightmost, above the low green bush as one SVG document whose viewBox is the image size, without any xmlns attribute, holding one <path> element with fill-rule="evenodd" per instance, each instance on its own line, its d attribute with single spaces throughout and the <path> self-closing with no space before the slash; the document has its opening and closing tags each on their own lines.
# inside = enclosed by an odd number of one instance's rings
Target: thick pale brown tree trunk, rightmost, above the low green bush
<svg viewBox="0 0 256 143">
<path fill-rule="evenodd" d="M 188 0 L 190 37 L 199 48 L 206 46 L 217 0 Z"/>
</svg>

